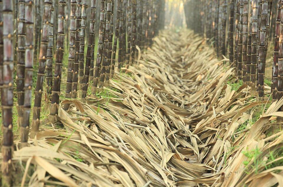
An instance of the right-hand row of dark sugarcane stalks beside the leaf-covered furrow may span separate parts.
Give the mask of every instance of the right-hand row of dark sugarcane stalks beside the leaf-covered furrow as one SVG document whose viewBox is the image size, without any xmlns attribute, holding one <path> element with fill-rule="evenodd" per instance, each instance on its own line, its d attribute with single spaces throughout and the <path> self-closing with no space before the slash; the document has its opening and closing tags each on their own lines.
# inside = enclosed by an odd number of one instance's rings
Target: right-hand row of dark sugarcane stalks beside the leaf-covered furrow
<svg viewBox="0 0 283 187">
<path fill-rule="evenodd" d="M 194 0 L 185 1 L 185 13 L 189 17 L 187 26 L 204 35 L 207 40 L 213 39 L 210 41 L 213 41 L 219 58 L 229 55 L 230 64 L 235 67 L 238 79 L 250 86 L 251 95 L 258 96 L 259 100 L 264 99 L 266 54 L 270 33 L 273 34 L 271 92 L 274 101 L 281 99 L 283 96 L 282 0 L 202 1 L 207 6 L 204 7 Z M 272 20 L 274 20 L 273 25 Z"/>
</svg>

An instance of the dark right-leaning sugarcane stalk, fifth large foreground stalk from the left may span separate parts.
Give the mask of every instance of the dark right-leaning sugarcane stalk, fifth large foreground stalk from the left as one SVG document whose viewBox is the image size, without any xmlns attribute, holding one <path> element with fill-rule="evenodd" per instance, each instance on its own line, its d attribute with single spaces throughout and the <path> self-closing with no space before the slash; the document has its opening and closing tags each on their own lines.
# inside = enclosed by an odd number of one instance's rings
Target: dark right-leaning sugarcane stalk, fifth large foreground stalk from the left
<svg viewBox="0 0 283 187">
<path fill-rule="evenodd" d="M 53 90 L 52 90 L 52 98 L 51 98 L 51 106 L 50 106 L 50 115 L 49 121 L 51 123 L 55 123 L 58 121 L 58 106 L 59 106 L 59 97 L 60 97 L 60 84 L 61 84 L 61 76 L 62 76 L 62 61 L 64 55 L 64 41 L 65 41 L 65 6 L 66 0 L 59 0 L 58 6 L 58 38 L 56 45 L 56 60 L 54 67 L 54 75 L 53 75 Z"/>
</svg>

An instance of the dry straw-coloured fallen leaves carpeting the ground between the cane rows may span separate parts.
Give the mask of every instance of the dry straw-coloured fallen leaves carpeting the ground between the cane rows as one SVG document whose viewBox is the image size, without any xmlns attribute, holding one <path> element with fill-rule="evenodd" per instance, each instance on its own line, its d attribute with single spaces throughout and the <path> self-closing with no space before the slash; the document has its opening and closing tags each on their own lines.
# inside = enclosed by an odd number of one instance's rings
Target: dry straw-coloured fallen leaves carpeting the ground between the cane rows
<svg viewBox="0 0 283 187">
<path fill-rule="evenodd" d="M 274 122 L 283 101 L 251 98 L 227 59 L 191 31 L 154 40 L 86 103 L 63 101 L 71 103 L 69 113 L 59 109 L 64 128 L 43 126 L 14 151 L 22 185 L 283 185 Z"/>
</svg>

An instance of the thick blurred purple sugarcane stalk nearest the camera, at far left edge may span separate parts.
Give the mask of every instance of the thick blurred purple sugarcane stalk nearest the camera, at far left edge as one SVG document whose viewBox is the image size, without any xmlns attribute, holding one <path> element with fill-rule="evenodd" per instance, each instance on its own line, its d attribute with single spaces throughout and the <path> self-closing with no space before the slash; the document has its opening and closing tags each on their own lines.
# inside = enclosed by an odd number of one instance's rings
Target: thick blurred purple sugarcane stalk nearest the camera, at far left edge
<svg viewBox="0 0 283 187">
<path fill-rule="evenodd" d="M 2 101 L 2 186 L 10 186 L 12 182 L 12 152 L 13 152 L 13 70 L 14 70 L 14 26 L 13 4 L 11 0 L 3 0 L 3 88 Z"/>
</svg>

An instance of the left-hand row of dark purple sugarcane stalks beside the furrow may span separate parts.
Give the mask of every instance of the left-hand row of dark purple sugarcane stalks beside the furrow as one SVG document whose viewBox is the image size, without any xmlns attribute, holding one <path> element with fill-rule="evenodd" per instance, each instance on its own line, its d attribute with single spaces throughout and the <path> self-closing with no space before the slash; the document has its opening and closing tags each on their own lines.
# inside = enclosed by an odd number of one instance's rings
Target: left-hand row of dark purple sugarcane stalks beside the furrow
<svg viewBox="0 0 283 187">
<path fill-rule="evenodd" d="M 49 119 L 53 123 L 57 121 L 66 41 L 69 43 L 65 97 L 71 99 L 79 96 L 85 99 L 88 87 L 91 88 L 92 94 L 96 94 L 97 90 L 107 86 L 114 76 L 115 67 L 117 66 L 116 72 L 120 72 L 123 66 L 128 68 L 135 62 L 138 52 L 136 46 L 141 50 L 151 46 L 152 38 L 164 27 L 165 0 L 70 0 L 69 10 L 66 9 L 66 0 L 44 0 L 42 15 L 38 15 L 37 3 L 39 3 L 37 0 L 0 0 L 2 186 L 11 184 L 14 61 L 16 61 L 15 82 L 20 147 L 24 147 L 27 146 L 29 137 L 31 109 L 33 115 L 30 137 L 35 137 L 39 131 L 44 82 L 45 94 L 51 103 Z M 98 3 L 100 10 L 96 10 Z M 114 25 L 115 9 L 117 14 Z M 96 19 L 96 11 L 100 12 L 99 20 Z M 70 19 L 69 28 L 65 25 L 66 14 Z M 40 21 L 38 17 L 41 16 Z M 12 20 L 16 20 L 15 25 Z M 34 22 L 35 20 L 37 23 Z M 38 24 L 38 22 L 42 23 Z M 56 27 L 53 27 L 55 24 Z M 87 24 L 89 24 L 88 33 L 86 33 Z M 98 34 L 95 33 L 95 24 L 99 24 Z M 38 25 L 41 27 L 40 33 L 36 32 Z M 53 32 L 54 28 L 57 29 L 56 32 Z M 58 34 L 54 36 L 53 33 Z M 69 36 L 68 40 L 65 38 L 66 34 Z M 54 40 L 54 37 L 57 39 Z M 96 37 L 98 50 L 95 58 Z M 38 60 L 35 60 L 35 44 L 39 39 L 40 45 L 37 45 L 39 55 Z M 33 83 L 34 61 L 38 63 L 36 83 Z M 33 89 L 34 84 L 35 89 Z M 32 108 L 33 90 L 35 99 Z M 68 110 L 70 104 L 64 104 L 63 107 Z"/>
</svg>

